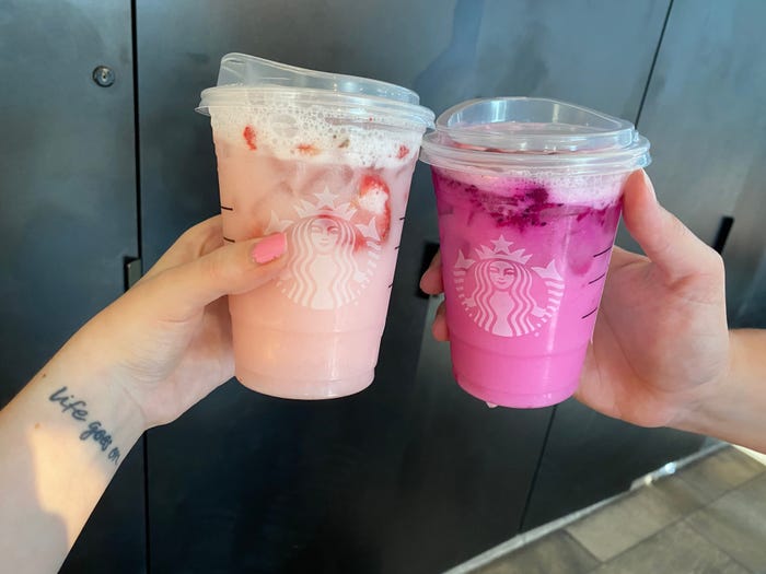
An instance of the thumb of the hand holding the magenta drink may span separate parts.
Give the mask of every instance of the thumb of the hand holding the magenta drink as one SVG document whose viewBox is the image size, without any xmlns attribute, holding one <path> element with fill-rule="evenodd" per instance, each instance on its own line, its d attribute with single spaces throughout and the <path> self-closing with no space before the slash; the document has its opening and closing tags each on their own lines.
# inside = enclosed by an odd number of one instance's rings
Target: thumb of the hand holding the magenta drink
<svg viewBox="0 0 766 574">
<path fill-rule="evenodd" d="M 671 281 L 698 272 L 706 258 L 717 255 L 660 206 L 643 169 L 634 172 L 625 184 L 623 219 L 647 257 Z"/>
</svg>

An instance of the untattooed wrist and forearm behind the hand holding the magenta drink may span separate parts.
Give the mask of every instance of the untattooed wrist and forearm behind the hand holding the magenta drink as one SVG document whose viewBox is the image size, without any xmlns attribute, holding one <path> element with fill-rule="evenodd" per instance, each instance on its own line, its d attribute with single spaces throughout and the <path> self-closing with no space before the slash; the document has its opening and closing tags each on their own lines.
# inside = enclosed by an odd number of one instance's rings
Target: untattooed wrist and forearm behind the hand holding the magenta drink
<svg viewBox="0 0 766 574">
<path fill-rule="evenodd" d="M 730 331 L 728 376 L 677 425 L 766 453 L 766 330 Z"/>
</svg>

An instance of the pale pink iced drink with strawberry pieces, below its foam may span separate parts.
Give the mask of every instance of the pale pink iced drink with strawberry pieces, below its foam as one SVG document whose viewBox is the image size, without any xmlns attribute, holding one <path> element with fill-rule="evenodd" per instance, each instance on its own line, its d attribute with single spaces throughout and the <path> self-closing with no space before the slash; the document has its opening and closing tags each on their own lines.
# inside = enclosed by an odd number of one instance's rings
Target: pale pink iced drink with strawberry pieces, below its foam
<svg viewBox="0 0 766 574">
<path fill-rule="evenodd" d="M 282 276 L 229 298 L 237 379 L 291 398 L 363 389 L 378 362 L 415 152 L 364 168 L 341 157 L 282 160 L 244 138 L 217 138 L 216 150 L 227 241 L 288 237 Z"/>
</svg>

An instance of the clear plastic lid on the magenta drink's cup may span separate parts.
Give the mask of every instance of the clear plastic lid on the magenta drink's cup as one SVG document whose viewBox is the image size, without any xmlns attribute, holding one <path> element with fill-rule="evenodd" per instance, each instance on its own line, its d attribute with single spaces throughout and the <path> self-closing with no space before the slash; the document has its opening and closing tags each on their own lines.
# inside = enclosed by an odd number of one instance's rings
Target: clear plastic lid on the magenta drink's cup
<svg viewBox="0 0 766 574">
<path fill-rule="evenodd" d="M 650 163 L 649 141 L 629 121 L 535 97 L 472 99 L 451 107 L 428 133 L 420 159 L 491 172 L 627 172 Z"/>
</svg>

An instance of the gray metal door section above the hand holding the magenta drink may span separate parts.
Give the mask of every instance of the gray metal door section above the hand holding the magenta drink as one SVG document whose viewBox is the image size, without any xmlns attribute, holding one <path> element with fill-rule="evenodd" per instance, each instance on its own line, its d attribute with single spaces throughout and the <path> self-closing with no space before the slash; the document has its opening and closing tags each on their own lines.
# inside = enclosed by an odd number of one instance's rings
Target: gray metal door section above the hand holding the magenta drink
<svg viewBox="0 0 766 574">
<path fill-rule="evenodd" d="M 660 200 L 722 248 L 733 327 L 766 326 L 764 22 L 757 0 L 675 0 L 639 126 Z"/>
</svg>

